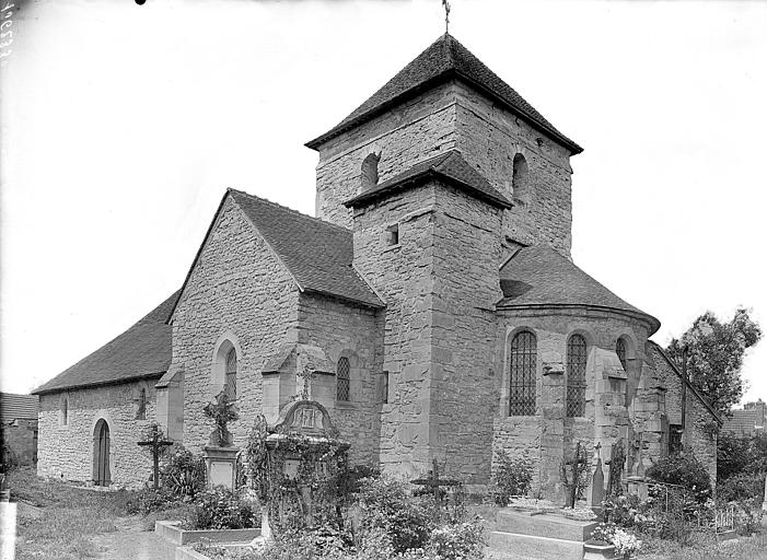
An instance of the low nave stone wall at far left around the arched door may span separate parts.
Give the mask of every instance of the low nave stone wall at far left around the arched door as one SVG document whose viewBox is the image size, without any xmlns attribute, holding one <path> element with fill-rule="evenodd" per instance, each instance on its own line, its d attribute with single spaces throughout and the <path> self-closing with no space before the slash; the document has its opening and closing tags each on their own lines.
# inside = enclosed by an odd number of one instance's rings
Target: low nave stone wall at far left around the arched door
<svg viewBox="0 0 767 560">
<path fill-rule="evenodd" d="M 109 471 L 113 485 L 140 486 L 152 472 L 152 460 L 137 445 L 156 419 L 156 380 L 128 382 L 40 395 L 37 474 L 65 480 L 93 480 L 93 435 L 96 422 L 109 427 Z M 147 392 L 146 419 L 137 420 L 140 389 Z M 61 401 L 68 399 L 63 424 Z"/>
</svg>

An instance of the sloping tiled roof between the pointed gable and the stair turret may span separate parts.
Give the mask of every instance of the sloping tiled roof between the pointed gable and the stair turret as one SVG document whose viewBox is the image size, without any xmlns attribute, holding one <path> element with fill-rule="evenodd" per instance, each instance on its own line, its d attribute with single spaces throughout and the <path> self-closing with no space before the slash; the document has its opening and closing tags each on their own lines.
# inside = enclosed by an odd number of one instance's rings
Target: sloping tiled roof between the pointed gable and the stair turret
<svg viewBox="0 0 767 560">
<path fill-rule="evenodd" d="M 240 190 L 229 189 L 229 194 L 284 262 L 302 291 L 370 307 L 384 306 L 351 266 L 351 230 Z"/>
</svg>

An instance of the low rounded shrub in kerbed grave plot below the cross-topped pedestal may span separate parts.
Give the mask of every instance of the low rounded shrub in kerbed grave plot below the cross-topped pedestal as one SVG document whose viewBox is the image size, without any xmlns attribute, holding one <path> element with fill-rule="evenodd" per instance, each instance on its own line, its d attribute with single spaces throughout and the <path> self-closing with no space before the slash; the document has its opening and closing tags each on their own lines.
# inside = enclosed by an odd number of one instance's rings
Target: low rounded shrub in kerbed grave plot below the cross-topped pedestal
<svg viewBox="0 0 767 560">
<path fill-rule="evenodd" d="M 198 495 L 193 524 L 197 529 L 243 529 L 260 526 L 260 512 L 224 487 Z"/>
</svg>

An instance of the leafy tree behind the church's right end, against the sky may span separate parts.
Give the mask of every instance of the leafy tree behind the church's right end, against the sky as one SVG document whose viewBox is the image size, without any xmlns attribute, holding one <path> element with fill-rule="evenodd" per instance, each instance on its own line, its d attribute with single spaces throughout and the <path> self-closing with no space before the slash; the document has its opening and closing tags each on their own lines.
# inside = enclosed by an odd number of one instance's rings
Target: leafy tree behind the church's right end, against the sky
<svg viewBox="0 0 767 560">
<path fill-rule="evenodd" d="M 762 329 L 748 316 L 748 310 L 739 308 L 730 323 L 721 323 L 707 311 L 681 338 L 673 339 L 666 351 L 681 364 L 682 351 L 687 347 L 687 374 L 693 386 L 719 413 L 729 416 L 730 408 L 743 396 L 743 355 L 760 338 Z"/>
</svg>

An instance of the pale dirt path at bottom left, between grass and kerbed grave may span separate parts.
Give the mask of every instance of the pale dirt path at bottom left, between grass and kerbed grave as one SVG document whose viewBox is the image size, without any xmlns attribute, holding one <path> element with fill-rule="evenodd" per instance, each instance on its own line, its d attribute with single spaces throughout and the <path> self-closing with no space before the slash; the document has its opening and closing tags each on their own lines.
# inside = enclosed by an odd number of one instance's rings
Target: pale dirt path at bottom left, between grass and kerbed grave
<svg viewBox="0 0 767 560">
<path fill-rule="evenodd" d="M 102 550 L 101 560 L 174 560 L 175 545 L 158 537 L 153 530 L 143 530 L 138 516 L 115 520 L 117 530 L 93 537 Z"/>
</svg>

